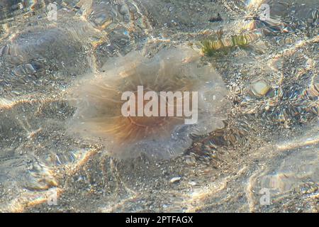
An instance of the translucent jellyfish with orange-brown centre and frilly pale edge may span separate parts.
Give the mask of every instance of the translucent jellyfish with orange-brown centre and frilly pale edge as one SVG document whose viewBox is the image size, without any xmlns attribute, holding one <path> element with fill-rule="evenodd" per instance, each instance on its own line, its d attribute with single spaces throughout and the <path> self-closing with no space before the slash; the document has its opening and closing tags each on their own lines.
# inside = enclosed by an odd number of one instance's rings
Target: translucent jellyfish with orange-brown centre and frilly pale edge
<svg viewBox="0 0 319 227">
<path fill-rule="evenodd" d="M 190 103 L 189 111 L 196 108 L 196 122 L 186 123 L 190 115 L 177 115 L 184 106 L 183 96 L 175 96 L 169 103 L 165 99 L 162 109 L 174 106 L 174 114 L 135 116 L 123 114 L 123 93 L 147 92 L 153 99 L 162 99 L 161 92 L 189 94 L 188 100 L 197 94 L 196 105 Z M 184 92 L 184 93 L 182 93 Z M 187 93 L 189 92 L 189 93 Z M 199 55 L 191 48 L 168 48 L 154 57 L 144 57 L 140 52 L 130 52 L 116 57 L 103 66 L 103 72 L 87 74 L 69 90 L 69 99 L 77 108 L 68 123 L 68 130 L 84 139 L 99 139 L 109 155 L 118 158 L 137 157 L 141 153 L 149 157 L 175 157 L 189 148 L 191 134 L 203 135 L 223 127 L 226 118 L 226 89 L 219 74 L 209 65 L 199 64 Z M 157 95 L 157 96 L 156 96 Z M 142 100 L 142 106 L 151 101 Z M 179 100 L 183 99 L 183 100 Z M 135 106 L 136 105 L 136 106 Z M 138 104 L 130 108 L 138 112 Z M 147 106 L 150 108 L 150 105 Z M 152 111 L 154 113 L 154 106 Z"/>
</svg>

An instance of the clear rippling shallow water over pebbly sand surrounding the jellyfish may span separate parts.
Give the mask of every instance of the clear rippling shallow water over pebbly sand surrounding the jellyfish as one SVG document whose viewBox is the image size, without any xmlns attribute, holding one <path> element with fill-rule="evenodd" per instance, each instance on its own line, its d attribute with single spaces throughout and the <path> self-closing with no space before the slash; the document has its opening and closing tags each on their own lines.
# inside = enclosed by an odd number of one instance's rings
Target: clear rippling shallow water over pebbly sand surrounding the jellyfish
<svg viewBox="0 0 319 227">
<path fill-rule="evenodd" d="M 0 0 L 0 211 L 318 212 L 317 1 L 51 2 Z M 223 128 L 169 160 L 67 133 L 83 74 L 183 46 L 223 78 Z"/>
</svg>

